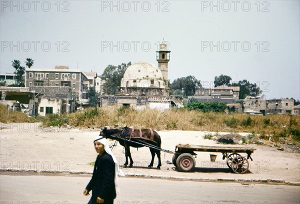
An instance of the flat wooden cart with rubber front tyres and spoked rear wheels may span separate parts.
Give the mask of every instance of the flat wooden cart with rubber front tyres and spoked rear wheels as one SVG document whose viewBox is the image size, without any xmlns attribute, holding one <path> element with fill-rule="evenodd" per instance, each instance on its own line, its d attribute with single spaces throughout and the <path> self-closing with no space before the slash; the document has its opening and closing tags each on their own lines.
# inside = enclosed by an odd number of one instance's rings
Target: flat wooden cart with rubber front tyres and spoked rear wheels
<svg viewBox="0 0 300 204">
<path fill-rule="evenodd" d="M 189 172 L 195 167 L 196 157 L 195 151 L 204 152 L 221 152 L 226 159 L 226 164 L 235 173 L 245 173 L 249 169 L 248 158 L 251 158 L 251 153 L 256 149 L 249 147 L 231 147 L 231 146 L 202 146 L 191 144 L 177 144 L 172 157 L 172 163 L 179 171 Z M 239 153 L 246 153 L 246 156 L 241 156 Z"/>
</svg>

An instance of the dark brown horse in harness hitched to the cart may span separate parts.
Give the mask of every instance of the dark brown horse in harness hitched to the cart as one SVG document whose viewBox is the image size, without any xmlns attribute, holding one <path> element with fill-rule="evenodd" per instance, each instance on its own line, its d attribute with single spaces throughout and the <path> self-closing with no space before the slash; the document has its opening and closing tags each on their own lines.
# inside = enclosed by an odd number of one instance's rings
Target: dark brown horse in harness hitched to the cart
<svg viewBox="0 0 300 204">
<path fill-rule="evenodd" d="M 159 134 L 155 130 L 152 130 L 149 128 L 134 129 L 134 128 L 130 128 L 130 127 L 121 127 L 119 129 L 107 129 L 106 127 L 104 127 L 100 131 L 100 135 L 105 138 L 115 139 L 122 146 L 124 146 L 126 160 L 125 160 L 123 167 L 127 167 L 128 157 L 130 159 L 129 167 L 132 167 L 132 165 L 133 165 L 133 160 L 132 160 L 131 153 L 130 153 L 130 146 L 138 148 L 138 147 L 143 147 L 144 145 L 142 145 L 142 144 L 146 144 L 146 145 L 155 146 L 155 147 L 160 148 L 160 145 L 161 145 L 161 139 L 160 139 Z M 131 141 L 136 141 L 136 142 L 139 142 L 142 144 L 137 144 L 137 143 L 134 143 Z M 160 150 L 154 149 L 151 147 L 149 147 L 149 149 L 150 149 L 152 158 L 151 158 L 151 162 L 149 163 L 148 167 L 151 168 L 153 166 L 154 157 L 155 157 L 155 153 L 156 153 L 157 158 L 158 158 L 157 169 L 159 169 L 161 166 Z"/>
</svg>

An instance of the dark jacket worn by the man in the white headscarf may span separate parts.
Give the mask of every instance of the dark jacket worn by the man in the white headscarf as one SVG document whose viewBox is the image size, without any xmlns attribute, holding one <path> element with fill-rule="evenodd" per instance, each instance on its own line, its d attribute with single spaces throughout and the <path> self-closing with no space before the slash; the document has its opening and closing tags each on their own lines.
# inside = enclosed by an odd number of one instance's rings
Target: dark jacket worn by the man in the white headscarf
<svg viewBox="0 0 300 204">
<path fill-rule="evenodd" d="M 92 177 L 85 187 L 92 190 L 91 200 L 96 202 L 97 197 L 113 200 L 116 196 L 114 185 L 115 163 L 110 154 L 98 155 L 95 161 Z"/>
</svg>

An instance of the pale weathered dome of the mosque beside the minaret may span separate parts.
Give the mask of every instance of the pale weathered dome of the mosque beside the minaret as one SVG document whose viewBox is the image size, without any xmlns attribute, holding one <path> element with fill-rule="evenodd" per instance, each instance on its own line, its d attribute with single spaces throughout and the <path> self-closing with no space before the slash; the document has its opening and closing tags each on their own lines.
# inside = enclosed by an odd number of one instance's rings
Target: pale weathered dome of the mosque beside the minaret
<svg viewBox="0 0 300 204">
<path fill-rule="evenodd" d="M 163 76 L 160 69 L 152 63 L 149 62 L 137 62 L 131 64 L 124 72 L 123 80 L 126 79 L 160 79 L 162 80 Z"/>
</svg>

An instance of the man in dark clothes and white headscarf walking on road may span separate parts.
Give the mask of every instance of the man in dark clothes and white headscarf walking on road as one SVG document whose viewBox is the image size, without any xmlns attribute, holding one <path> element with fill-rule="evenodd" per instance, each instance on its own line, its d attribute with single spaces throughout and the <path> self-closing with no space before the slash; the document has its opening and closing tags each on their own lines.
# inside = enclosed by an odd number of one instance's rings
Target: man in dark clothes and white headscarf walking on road
<svg viewBox="0 0 300 204">
<path fill-rule="evenodd" d="M 112 154 L 108 141 L 102 136 L 94 139 L 94 148 L 98 153 L 92 177 L 85 187 L 83 194 L 92 195 L 88 204 L 113 203 L 117 188 L 117 160 Z"/>
</svg>

